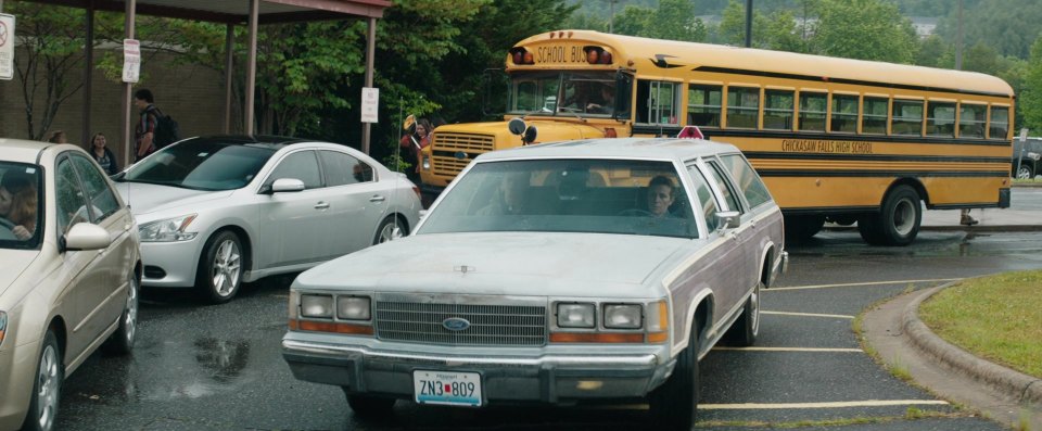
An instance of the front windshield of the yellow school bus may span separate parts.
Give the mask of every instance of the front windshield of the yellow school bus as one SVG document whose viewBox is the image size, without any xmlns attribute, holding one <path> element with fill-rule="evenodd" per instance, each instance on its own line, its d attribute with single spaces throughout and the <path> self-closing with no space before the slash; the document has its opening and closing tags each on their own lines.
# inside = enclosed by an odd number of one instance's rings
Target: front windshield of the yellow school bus
<svg viewBox="0 0 1042 431">
<path fill-rule="evenodd" d="M 510 114 L 608 116 L 614 106 L 614 72 L 518 72 L 510 81 Z"/>
</svg>

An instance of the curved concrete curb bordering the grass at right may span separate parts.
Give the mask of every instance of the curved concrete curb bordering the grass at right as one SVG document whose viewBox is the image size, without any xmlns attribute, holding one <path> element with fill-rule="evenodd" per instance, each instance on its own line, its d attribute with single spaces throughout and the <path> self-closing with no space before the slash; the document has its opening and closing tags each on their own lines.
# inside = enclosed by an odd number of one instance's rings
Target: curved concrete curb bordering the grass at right
<svg viewBox="0 0 1042 431">
<path fill-rule="evenodd" d="M 901 313 L 901 328 L 908 335 L 908 340 L 924 354 L 965 376 L 991 385 L 1012 400 L 1042 405 L 1042 379 L 974 356 L 942 340 L 919 320 L 918 309 L 923 301 L 955 283 L 957 281 L 928 289 L 905 305 Z"/>
</svg>

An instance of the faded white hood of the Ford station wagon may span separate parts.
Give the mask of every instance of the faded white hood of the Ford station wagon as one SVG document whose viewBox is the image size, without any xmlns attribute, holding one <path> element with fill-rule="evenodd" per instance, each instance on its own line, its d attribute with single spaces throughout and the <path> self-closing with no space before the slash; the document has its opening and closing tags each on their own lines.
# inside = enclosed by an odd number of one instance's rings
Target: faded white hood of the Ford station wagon
<svg viewBox="0 0 1042 431">
<path fill-rule="evenodd" d="M 473 284 L 511 293 L 519 293 L 516 289 L 559 293 L 582 286 L 628 286 L 620 289 L 633 291 L 634 284 L 644 283 L 663 263 L 675 262 L 681 250 L 694 250 L 691 241 L 587 233 L 421 234 L 326 263 L 301 275 L 297 282 L 318 289 L 455 289 Z"/>
</svg>

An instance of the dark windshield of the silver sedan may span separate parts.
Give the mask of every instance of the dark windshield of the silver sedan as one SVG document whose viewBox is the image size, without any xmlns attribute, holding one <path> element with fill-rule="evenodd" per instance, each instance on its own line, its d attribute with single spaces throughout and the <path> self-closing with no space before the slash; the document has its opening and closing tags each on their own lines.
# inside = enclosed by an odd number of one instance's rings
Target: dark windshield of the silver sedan
<svg viewBox="0 0 1042 431">
<path fill-rule="evenodd" d="M 193 190 L 240 189 L 257 176 L 275 151 L 211 139 L 187 140 L 141 161 L 119 180 Z"/>
</svg>

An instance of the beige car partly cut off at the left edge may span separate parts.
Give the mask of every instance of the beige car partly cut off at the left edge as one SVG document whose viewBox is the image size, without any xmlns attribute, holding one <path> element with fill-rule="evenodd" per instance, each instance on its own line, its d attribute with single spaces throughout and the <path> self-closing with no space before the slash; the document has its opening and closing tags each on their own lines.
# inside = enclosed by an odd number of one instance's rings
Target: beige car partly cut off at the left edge
<svg viewBox="0 0 1042 431">
<path fill-rule="evenodd" d="M 63 380 L 138 322 L 138 227 L 78 147 L 0 139 L 0 430 L 54 428 Z"/>
</svg>

